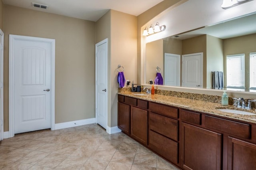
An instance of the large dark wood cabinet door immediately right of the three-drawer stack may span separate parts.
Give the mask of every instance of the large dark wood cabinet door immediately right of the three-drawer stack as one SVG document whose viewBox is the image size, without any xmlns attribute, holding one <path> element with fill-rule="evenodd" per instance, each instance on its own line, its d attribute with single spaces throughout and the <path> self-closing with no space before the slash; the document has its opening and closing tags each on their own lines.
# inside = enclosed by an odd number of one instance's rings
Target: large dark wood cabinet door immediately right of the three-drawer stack
<svg viewBox="0 0 256 170">
<path fill-rule="evenodd" d="M 184 170 L 221 169 L 222 135 L 182 123 Z"/>
</svg>

